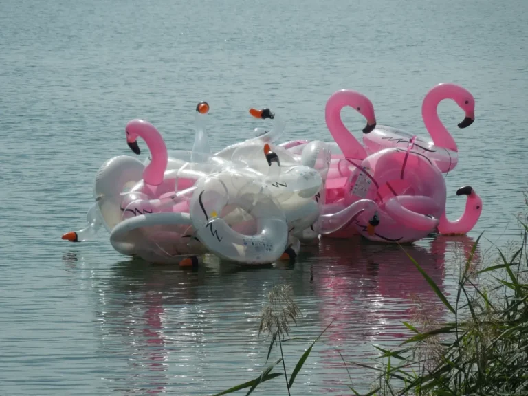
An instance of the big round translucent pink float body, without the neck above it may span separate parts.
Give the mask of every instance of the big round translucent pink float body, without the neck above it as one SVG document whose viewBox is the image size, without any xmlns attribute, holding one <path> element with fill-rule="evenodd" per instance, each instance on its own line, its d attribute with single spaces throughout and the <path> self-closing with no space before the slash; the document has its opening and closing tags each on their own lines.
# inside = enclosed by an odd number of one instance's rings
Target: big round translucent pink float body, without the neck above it
<svg viewBox="0 0 528 396">
<path fill-rule="evenodd" d="M 445 182 L 429 159 L 418 153 L 388 148 L 356 165 L 334 205 L 349 206 L 358 199 L 371 199 L 380 207 L 375 230 L 360 215 L 352 228 L 371 241 L 413 242 L 434 232 L 445 212 Z M 349 229 L 334 237 L 349 237 Z"/>
</svg>

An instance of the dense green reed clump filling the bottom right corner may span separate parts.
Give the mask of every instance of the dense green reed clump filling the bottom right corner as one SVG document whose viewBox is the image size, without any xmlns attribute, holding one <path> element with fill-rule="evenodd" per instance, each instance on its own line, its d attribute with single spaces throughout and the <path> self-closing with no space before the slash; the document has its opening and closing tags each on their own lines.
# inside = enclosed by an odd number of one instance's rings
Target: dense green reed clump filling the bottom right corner
<svg viewBox="0 0 528 396">
<path fill-rule="evenodd" d="M 404 322 L 415 335 L 397 350 L 376 347 L 381 368 L 349 362 L 377 371 L 367 395 L 528 395 L 528 225 L 519 222 L 522 232 L 514 250 L 497 248 L 498 261 L 476 272 L 492 275 L 486 288 L 475 285 L 470 274 L 478 236 L 461 271 L 454 306 L 409 256 L 454 320 L 426 331 Z"/>
</svg>

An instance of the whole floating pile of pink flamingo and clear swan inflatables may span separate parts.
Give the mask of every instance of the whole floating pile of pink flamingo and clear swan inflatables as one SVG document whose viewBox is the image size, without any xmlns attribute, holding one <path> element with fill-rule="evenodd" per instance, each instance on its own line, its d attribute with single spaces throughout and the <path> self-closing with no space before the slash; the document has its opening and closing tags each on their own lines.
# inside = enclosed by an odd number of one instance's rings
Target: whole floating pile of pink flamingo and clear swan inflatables
<svg viewBox="0 0 528 396">
<path fill-rule="evenodd" d="M 211 153 L 206 135 L 209 105 L 196 107 L 192 151 L 168 151 L 153 124 L 131 120 L 126 143 L 140 154 L 113 157 L 100 167 L 88 226 L 63 239 L 86 241 L 100 225 L 121 254 L 151 263 L 196 265 L 204 254 L 258 265 L 294 259 L 301 245 L 320 236 L 384 243 L 418 241 L 428 234 L 465 234 L 481 215 L 482 200 L 470 186 L 456 191 L 467 203 L 460 219 L 445 216 L 443 173 L 458 162 L 452 136 L 437 107 L 452 99 L 465 112 L 459 128 L 474 122 L 472 94 L 454 84 L 433 87 L 422 115 L 432 142 L 378 125 L 372 102 L 343 89 L 326 105 L 335 142 L 278 143 L 284 124 L 270 109 L 250 114 L 271 122 L 244 142 Z M 344 126 L 340 112 L 351 106 L 366 118 L 361 144 Z"/>
</svg>

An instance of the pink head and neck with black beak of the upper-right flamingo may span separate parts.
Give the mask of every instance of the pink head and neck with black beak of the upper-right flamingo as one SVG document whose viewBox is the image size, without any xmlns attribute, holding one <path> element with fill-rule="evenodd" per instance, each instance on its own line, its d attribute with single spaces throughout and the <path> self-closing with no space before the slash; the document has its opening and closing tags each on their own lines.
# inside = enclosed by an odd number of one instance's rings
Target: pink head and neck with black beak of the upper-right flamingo
<svg viewBox="0 0 528 396">
<path fill-rule="evenodd" d="M 423 123 L 429 132 L 432 142 L 439 147 L 458 151 L 456 142 L 448 129 L 445 128 L 438 115 L 438 105 L 444 99 L 451 99 L 465 111 L 465 118 L 459 128 L 470 126 L 475 120 L 475 100 L 467 89 L 456 84 L 439 84 L 428 91 L 423 99 L 421 115 Z"/>
</svg>

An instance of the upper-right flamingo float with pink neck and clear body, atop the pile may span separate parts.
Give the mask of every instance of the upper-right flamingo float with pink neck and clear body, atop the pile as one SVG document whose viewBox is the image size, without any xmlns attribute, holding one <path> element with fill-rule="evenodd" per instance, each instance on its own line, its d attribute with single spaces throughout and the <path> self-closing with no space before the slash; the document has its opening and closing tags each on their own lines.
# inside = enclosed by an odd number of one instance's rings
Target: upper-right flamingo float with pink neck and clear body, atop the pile
<svg viewBox="0 0 528 396">
<path fill-rule="evenodd" d="M 426 155 L 436 164 L 442 173 L 454 169 L 459 161 L 456 142 L 448 129 L 445 128 L 438 115 L 438 105 L 442 100 L 451 99 L 464 111 L 465 118 L 459 123 L 459 128 L 467 128 L 475 120 L 475 100 L 471 92 L 452 83 L 441 83 L 428 91 L 423 100 L 421 114 L 431 141 L 417 137 L 413 151 Z M 375 153 L 384 148 L 404 148 L 412 135 L 391 126 L 378 125 L 373 131 L 363 136 L 365 146 Z"/>
</svg>

